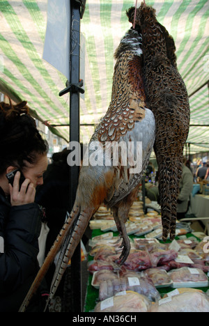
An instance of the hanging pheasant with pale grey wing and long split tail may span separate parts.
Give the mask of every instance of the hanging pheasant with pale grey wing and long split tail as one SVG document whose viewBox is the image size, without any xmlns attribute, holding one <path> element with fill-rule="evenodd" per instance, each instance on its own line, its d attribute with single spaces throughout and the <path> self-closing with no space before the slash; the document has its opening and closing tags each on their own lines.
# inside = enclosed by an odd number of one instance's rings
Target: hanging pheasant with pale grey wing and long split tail
<svg viewBox="0 0 209 326">
<path fill-rule="evenodd" d="M 141 53 L 141 35 L 130 29 L 116 49 L 111 102 L 88 144 L 87 157 L 84 155 L 75 205 L 20 311 L 24 311 L 64 240 L 49 300 L 53 297 L 89 220 L 102 203 L 112 210 L 123 239 L 118 263 L 123 264 L 130 252 L 125 222 L 155 141 L 155 118 L 146 108 L 141 78 Z"/>
</svg>

